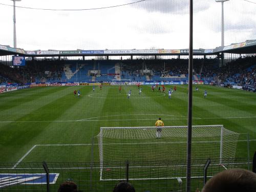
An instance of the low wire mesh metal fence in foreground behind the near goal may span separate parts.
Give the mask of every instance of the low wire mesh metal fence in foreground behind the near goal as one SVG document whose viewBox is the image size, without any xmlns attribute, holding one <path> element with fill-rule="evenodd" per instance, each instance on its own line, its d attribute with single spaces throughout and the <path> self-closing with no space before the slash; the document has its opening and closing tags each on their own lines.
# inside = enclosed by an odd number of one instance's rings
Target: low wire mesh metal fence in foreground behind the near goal
<svg viewBox="0 0 256 192">
<path fill-rule="evenodd" d="M 199 159 L 191 166 L 191 191 L 201 189 L 204 180 L 229 168 L 252 168 L 248 158 Z M 136 191 L 185 191 L 186 162 L 99 162 L 0 164 L 0 191 L 57 191 L 67 180 L 80 191 L 113 191 L 120 180 L 128 180 Z M 208 166 L 206 166 L 208 165 Z M 207 175 L 206 175 L 207 173 Z"/>
</svg>

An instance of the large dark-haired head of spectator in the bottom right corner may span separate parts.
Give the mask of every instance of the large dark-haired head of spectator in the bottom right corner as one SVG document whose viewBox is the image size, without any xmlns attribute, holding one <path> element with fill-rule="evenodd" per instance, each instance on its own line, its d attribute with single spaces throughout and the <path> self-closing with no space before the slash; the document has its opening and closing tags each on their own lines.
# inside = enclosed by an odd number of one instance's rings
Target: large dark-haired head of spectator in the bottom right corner
<svg viewBox="0 0 256 192">
<path fill-rule="evenodd" d="M 234 168 L 225 170 L 212 177 L 202 192 L 255 192 L 256 174 L 246 169 Z"/>
</svg>

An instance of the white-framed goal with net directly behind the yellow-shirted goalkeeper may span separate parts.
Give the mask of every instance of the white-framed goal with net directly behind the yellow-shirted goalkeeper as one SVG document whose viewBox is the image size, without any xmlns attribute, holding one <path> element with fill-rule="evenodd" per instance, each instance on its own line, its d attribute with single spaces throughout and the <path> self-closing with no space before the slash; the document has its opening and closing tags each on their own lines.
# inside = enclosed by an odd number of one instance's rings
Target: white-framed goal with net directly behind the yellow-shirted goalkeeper
<svg viewBox="0 0 256 192">
<path fill-rule="evenodd" d="M 155 126 L 101 127 L 97 135 L 100 179 L 124 179 L 126 161 L 133 173 L 130 179 L 185 177 L 187 126 L 161 127 L 160 138 L 156 133 Z M 238 137 L 223 125 L 193 126 L 192 162 L 211 158 L 223 165 L 234 158 Z"/>
</svg>

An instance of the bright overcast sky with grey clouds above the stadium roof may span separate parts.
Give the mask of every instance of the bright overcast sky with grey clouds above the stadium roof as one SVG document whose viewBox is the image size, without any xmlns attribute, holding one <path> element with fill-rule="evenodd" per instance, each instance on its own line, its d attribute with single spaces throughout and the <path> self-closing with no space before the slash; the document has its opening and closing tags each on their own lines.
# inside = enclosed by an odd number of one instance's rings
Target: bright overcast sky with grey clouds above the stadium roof
<svg viewBox="0 0 256 192">
<path fill-rule="evenodd" d="M 16 6 L 94 9 L 138 0 L 22 0 Z M 224 3 L 225 45 L 256 39 L 256 0 Z M 10 0 L 1 4 L 12 5 Z M 13 47 L 13 7 L 0 5 L 0 45 Z M 25 50 L 185 49 L 188 0 L 146 0 L 86 11 L 16 8 L 17 47 Z M 194 49 L 221 45 L 221 3 L 194 1 Z"/>
</svg>

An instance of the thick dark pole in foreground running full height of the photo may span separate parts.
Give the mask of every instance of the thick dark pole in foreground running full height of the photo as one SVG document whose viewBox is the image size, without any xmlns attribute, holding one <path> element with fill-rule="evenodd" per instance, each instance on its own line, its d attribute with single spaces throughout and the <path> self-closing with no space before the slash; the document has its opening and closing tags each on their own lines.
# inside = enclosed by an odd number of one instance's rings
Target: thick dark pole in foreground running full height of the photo
<svg viewBox="0 0 256 192">
<path fill-rule="evenodd" d="M 188 117 L 187 117 L 187 172 L 186 192 L 191 189 L 191 138 L 192 138 L 192 77 L 193 77 L 193 0 L 189 0 L 189 60 L 188 60 Z"/>
</svg>

